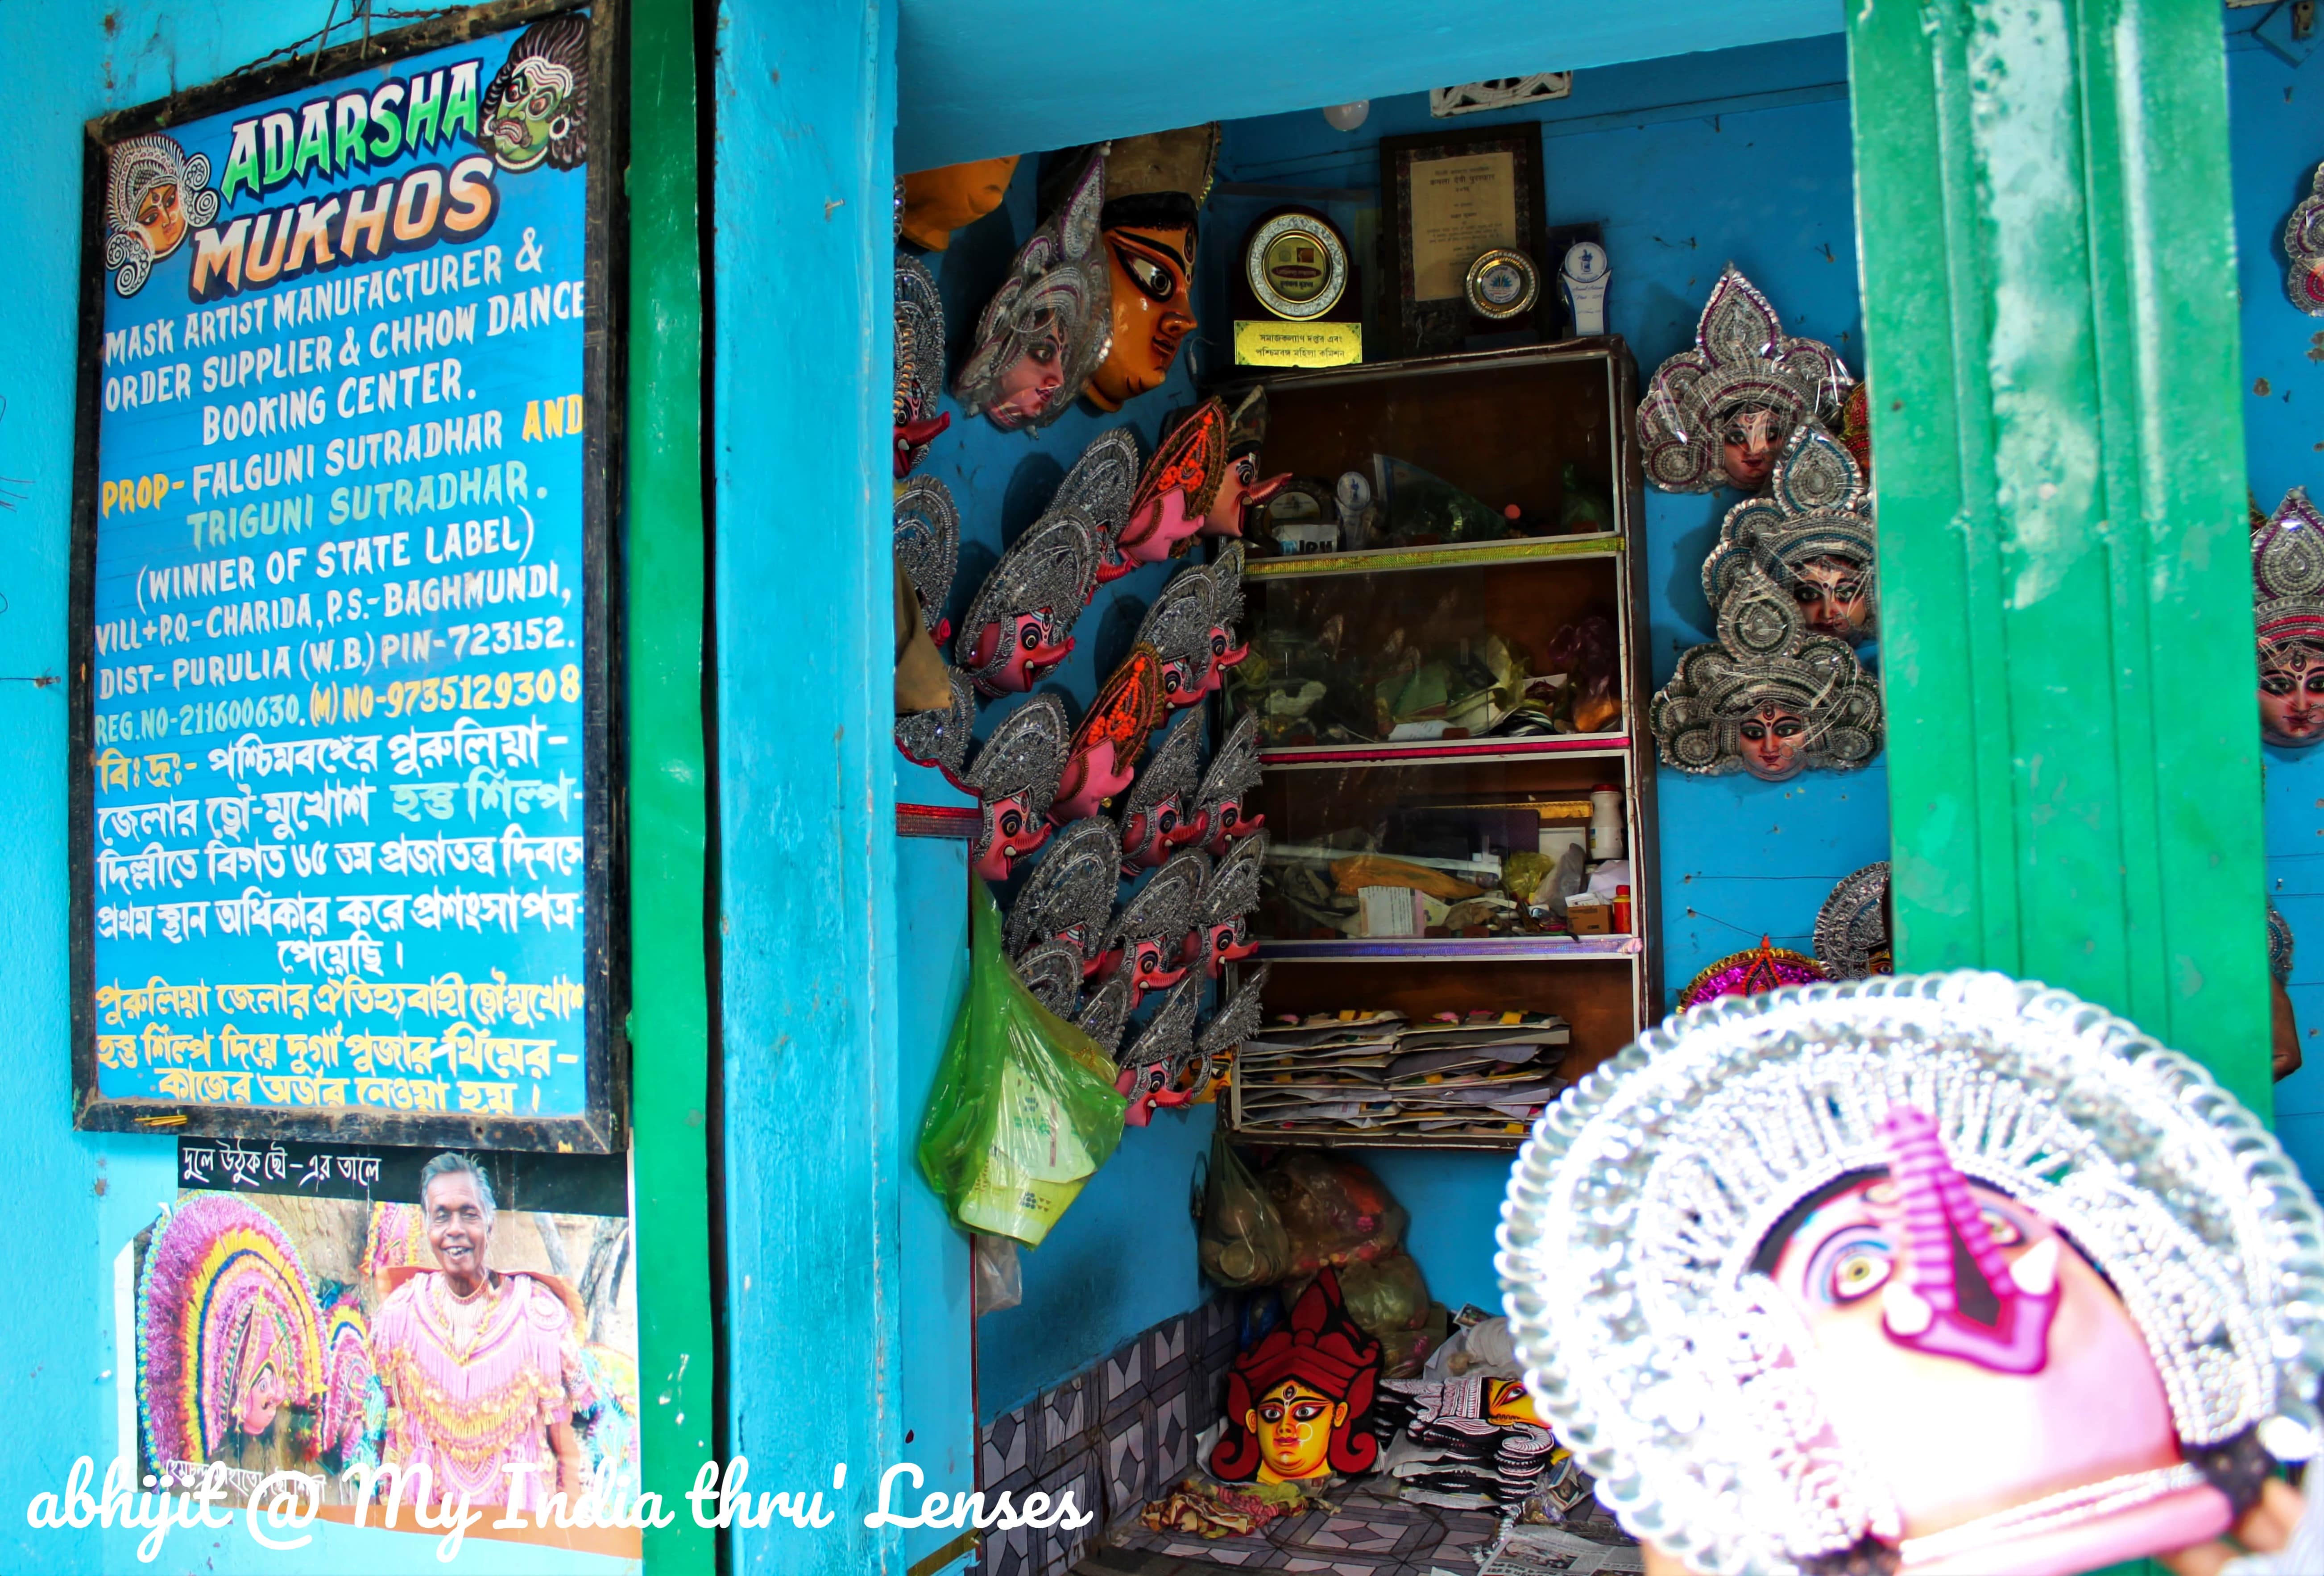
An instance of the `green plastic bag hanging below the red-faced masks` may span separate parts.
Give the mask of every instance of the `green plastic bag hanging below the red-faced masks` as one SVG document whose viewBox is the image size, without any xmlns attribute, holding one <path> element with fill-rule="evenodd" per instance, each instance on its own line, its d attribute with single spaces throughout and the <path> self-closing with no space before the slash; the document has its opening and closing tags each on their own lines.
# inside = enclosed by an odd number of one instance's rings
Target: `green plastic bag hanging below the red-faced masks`
<svg viewBox="0 0 2324 1576">
<path fill-rule="evenodd" d="M 1041 1246 L 1113 1158 L 1129 1102 L 1097 1044 L 1025 990 L 983 881 L 969 900 L 969 995 L 920 1123 L 920 1174 L 969 1232 Z"/>
</svg>

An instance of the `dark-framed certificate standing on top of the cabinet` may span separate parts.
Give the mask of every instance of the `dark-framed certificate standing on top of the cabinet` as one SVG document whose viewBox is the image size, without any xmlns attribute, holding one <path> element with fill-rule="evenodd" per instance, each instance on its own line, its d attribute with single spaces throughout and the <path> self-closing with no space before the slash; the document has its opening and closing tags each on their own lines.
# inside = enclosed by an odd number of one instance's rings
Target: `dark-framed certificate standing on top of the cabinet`
<svg viewBox="0 0 2324 1576">
<path fill-rule="evenodd" d="M 1476 332 L 1469 270 L 1490 251 L 1518 251 L 1538 270 L 1545 249 L 1541 126 L 1492 126 L 1380 139 L 1380 337 L 1390 358 L 1466 349 Z M 1536 291 L 1499 330 L 1557 332 Z"/>
</svg>

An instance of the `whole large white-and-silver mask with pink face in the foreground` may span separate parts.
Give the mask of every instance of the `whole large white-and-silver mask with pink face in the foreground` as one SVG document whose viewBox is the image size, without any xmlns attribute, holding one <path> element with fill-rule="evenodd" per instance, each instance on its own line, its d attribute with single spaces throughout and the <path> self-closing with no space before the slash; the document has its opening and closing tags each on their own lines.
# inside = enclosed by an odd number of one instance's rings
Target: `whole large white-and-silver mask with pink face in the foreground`
<svg viewBox="0 0 2324 1576">
<path fill-rule="evenodd" d="M 1504 1204 L 1541 1418 L 1717 1576 L 2066 1576 L 2317 1448 L 2324 1218 L 2208 1072 L 2061 990 L 1722 997 L 1548 1106 Z"/>
</svg>

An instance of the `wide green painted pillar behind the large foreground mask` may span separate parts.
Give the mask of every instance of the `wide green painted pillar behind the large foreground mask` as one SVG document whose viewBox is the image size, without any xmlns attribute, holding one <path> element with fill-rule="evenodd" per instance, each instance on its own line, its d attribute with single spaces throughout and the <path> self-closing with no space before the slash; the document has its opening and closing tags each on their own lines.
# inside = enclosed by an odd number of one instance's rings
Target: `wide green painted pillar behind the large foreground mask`
<svg viewBox="0 0 2324 1576">
<path fill-rule="evenodd" d="M 1845 0 L 1899 967 L 2075 990 L 2268 1109 L 2212 0 Z"/>
</svg>

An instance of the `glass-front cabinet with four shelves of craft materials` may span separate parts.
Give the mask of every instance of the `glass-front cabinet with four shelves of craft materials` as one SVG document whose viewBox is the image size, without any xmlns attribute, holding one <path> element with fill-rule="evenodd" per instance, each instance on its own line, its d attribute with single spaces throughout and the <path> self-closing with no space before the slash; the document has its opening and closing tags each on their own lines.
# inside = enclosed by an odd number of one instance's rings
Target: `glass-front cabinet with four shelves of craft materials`
<svg viewBox="0 0 2324 1576">
<path fill-rule="evenodd" d="M 1620 339 L 1267 384 L 1250 1141 L 1515 1146 L 1659 1002 L 1634 384 Z"/>
</svg>

